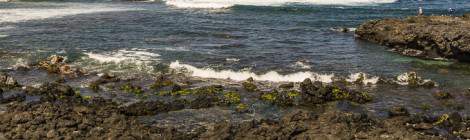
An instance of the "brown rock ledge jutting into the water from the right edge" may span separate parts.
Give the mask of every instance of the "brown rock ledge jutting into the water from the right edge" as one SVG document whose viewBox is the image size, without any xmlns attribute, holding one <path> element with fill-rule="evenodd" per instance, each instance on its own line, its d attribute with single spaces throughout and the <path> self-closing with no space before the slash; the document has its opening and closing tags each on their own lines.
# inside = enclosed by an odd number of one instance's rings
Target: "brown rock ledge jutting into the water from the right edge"
<svg viewBox="0 0 470 140">
<path fill-rule="evenodd" d="M 355 34 L 406 56 L 470 62 L 469 31 L 470 14 L 465 14 L 372 20 L 358 27 Z"/>
</svg>

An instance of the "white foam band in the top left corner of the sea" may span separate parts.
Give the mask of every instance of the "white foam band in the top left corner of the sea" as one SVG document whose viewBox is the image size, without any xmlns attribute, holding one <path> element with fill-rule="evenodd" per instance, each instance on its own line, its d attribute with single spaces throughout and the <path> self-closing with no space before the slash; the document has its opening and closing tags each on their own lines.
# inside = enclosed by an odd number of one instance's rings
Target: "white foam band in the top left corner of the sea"
<svg viewBox="0 0 470 140">
<path fill-rule="evenodd" d="M 64 16 L 89 14 L 111 11 L 130 11 L 139 10 L 136 8 L 126 8 L 122 5 L 105 4 L 79 4 L 79 3 L 61 3 L 48 4 L 52 8 L 13 8 L 0 9 L 0 23 L 2 22 L 22 22 L 28 20 L 38 20 L 46 18 L 60 18 Z"/>
</svg>

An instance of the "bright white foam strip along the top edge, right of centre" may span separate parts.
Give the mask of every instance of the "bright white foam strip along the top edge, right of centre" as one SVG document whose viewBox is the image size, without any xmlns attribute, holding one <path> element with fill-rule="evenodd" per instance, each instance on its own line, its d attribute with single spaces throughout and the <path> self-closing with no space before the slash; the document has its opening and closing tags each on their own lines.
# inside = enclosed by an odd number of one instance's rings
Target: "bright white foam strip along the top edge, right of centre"
<svg viewBox="0 0 470 140">
<path fill-rule="evenodd" d="M 397 0 L 166 0 L 167 5 L 179 8 L 228 8 L 234 5 L 282 6 L 299 3 L 312 5 L 370 5 L 393 3 Z"/>
</svg>

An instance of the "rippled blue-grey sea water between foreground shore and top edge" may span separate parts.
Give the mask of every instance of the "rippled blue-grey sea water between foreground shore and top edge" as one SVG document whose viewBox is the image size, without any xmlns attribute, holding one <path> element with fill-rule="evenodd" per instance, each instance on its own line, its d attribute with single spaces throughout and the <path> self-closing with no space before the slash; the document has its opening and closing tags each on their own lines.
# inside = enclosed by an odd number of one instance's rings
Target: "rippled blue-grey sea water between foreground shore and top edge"
<svg viewBox="0 0 470 140">
<path fill-rule="evenodd" d="M 464 0 L 424 4 L 427 14 L 470 10 Z M 416 0 L 0 3 L 0 66 L 61 54 L 97 71 L 186 67 L 195 76 L 272 81 L 417 71 L 444 87 L 466 87 L 468 64 L 400 56 L 332 30 L 415 15 L 417 6 Z"/>
</svg>

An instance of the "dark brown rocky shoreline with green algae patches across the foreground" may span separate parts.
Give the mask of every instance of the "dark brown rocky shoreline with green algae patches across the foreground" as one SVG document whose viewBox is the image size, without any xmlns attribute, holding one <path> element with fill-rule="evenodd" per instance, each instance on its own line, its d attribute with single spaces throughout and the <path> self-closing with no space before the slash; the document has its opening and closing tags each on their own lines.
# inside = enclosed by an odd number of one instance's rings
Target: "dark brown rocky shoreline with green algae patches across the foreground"
<svg viewBox="0 0 470 140">
<path fill-rule="evenodd" d="M 9 74 L 28 71 L 58 78 L 31 86 Z M 415 73 L 407 76 L 410 88 L 434 87 Z M 88 81 L 85 89 L 72 82 L 80 78 Z M 145 83 L 89 73 L 51 56 L 0 74 L 0 139 L 470 138 L 470 118 L 458 112 L 416 114 L 396 106 L 386 117 L 374 115 L 362 107 L 375 99 L 365 90 L 370 85 L 364 78 L 330 84 L 305 79 L 272 86 L 251 78 L 204 84 L 180 74 L 159 74 Z M 117 100 L 120 96 L 132 101 Z M 454 98 L 445 92 L 434 96 Z M 266 117 L 263 110 L 253 108 L 256 105 L 267 108 L 267 113 L 272 107 L 282 111 Z"/>
</svg>

